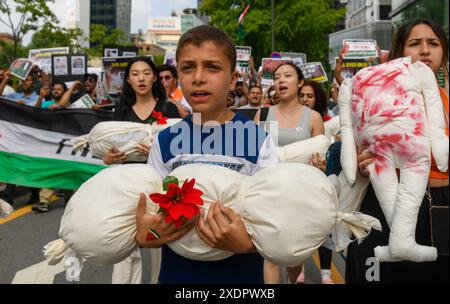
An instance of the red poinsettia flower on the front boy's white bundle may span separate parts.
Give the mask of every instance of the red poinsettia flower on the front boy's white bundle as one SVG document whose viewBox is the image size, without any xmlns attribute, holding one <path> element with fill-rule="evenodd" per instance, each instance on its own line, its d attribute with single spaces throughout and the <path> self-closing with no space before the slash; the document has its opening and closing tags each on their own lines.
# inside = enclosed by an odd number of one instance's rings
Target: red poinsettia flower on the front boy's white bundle
<svg viewBox="0 0 450 304">
<path fill-rule="evenodd" d="M 173 222 L 181 227 L 186 219 L 192 219 L 200 213 L 199 205 L 203 205 L 203 192 L 194 188 L 195 179 L 184 181 L 181 189 L 178 184 L 169 184 L 167 193 L 153 193 L 150 198 L 166 212 L 166 223 Z"/>
</svg>

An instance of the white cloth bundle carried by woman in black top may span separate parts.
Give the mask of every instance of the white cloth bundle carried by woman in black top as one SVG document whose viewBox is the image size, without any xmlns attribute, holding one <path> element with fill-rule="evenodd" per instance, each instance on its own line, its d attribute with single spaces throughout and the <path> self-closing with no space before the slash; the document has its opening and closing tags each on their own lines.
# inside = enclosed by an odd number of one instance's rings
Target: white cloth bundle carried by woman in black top
<svg viewBox="0 0 450 304">
<path fill-rule="evenodd" d="M 143 124 L 128 121 L 104 121 L 96 124 L 89 134 L 74 138 L 73 149 L 79 151 L 89 143 L 92 155 L 103 158 L 106 152 L 115 147 L 125 152 L 126 161 L 146 161 L 147 156 L 136 150 L 138 144 L 151 146 L 156 132 L 177 123 L 180 119 L 168 119 L 167 124 Z"/>
</svg>

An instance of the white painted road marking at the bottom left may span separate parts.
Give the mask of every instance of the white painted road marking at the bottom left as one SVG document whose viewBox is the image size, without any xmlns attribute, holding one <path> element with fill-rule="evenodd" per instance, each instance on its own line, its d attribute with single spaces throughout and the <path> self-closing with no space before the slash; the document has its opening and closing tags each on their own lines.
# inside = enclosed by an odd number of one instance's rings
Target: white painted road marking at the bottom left
<svg viewBox="0 0 450 304">
<path fill-rule="evenodd" d="M 48 265 L 47 261 L 42 261 L 16 272 L 11 284 L 53 284 L 55 276 L 63 271 L 63 261 L 57 265 Z"/>
</svg>

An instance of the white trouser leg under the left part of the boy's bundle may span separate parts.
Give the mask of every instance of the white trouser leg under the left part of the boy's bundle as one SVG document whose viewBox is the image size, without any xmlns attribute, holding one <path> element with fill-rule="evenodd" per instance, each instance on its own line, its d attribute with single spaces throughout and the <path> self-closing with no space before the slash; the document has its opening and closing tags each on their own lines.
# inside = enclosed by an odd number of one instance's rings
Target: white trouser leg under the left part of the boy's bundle
<svg viewBox="0 0 450 304">
<path fill-rule="evenodd" d="M 142 257 L 139 247 L 120 263 L 114 264 L 112 284 L 141 284 Z"/>
</svg>

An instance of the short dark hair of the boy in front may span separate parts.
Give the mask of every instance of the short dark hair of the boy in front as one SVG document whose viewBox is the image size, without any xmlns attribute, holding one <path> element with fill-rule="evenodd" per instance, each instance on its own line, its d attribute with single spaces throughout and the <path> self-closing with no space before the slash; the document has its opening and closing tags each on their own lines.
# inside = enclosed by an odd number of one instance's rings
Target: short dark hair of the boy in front
<svg viewBox="0 0 450 304">
<path fill-rule="evenodd" d="M 236 69 L 236 47 L 227 33 L 211 25 L 200 25 L 194 27 L 181 36 L 178 41 L 177 52 L 175 55 L 177 62 L 179 61 L 180 52 L 183 47 L 188 44 L 193 44 L 194 46 L 199 47 L 204 42 L 212 42 L 217 47 L 221 47 L 223 49 L 225 56 L 230 61 L 230 70 L 231 73 L 233 73 Z"/>
</svg>

